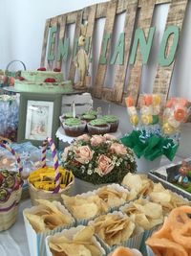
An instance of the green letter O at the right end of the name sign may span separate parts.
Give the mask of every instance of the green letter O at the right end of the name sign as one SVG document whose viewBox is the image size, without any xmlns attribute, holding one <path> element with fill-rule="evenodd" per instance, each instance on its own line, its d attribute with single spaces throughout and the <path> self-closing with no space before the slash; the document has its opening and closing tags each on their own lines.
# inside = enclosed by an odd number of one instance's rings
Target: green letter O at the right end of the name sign
<svg viewBox="0 0 191 256">
<path fill-rule="evenodd" d="M 179 42 L 179 33 L 180 31 L 178 26 L 169 26 L 164 32 L 164 35 L 162 37 L 160 47 L 159 47 L 159 57 L 158 57 L 159 65 L 169 66 L 173 62 L 175 58 L 178 42 Z M 170 35 L 174 35 L 174 39 L 173 39 L 171 49 L 169 51 L 169 55 L 168 57 L 166 57 L 165 56 L 166 44 L 168 42 L 168 38 Z"/>
</svg>

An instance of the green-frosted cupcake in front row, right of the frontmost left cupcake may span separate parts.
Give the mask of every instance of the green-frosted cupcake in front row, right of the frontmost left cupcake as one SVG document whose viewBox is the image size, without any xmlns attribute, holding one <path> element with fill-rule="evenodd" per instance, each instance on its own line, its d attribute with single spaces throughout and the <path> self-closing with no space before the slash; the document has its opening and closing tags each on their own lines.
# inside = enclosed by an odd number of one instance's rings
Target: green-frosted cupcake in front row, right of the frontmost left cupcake
<svg viewBox="0 0 191 256">
<path fill-rule="evenodd" d="M 90 121 L 87 124 L 88 131 L 91 135 L 93 134 L 104 134 L 110 131 L 110 125 L 101 118 Z"/>
</svg>

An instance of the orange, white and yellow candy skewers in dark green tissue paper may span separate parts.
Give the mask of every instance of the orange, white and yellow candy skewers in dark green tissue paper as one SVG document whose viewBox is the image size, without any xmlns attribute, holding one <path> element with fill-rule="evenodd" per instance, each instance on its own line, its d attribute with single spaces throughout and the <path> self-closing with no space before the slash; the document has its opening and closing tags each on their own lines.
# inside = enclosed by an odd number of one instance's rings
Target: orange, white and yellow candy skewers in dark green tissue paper
<svg viewBox="0 0 191 256">
<path fill-rule="evenodd" d="M 180 125 L 186 122 L 189 107 L 182 98 L 172 98 L 162 105 L 158 94 L 144 95 L 138 112 L 132 97 L 126 98 L 127 112 L 134 130 L 121 142 L 137 157 L 154 161 L 161 155 L 173 160 L 180 143 Z"/>
</svg>

